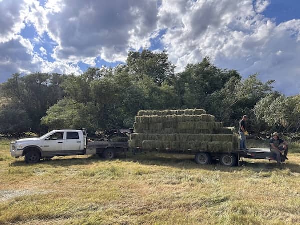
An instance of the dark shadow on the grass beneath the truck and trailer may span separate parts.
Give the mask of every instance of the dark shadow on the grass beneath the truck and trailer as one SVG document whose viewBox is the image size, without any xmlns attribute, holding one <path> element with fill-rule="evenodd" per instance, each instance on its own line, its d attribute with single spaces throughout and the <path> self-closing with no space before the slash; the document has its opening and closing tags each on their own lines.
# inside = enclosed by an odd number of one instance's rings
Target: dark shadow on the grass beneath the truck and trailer
<svg viewBox="0 0 300 225">
<path fill-rule="evenodd" d="M 140 163 L 142 165 L 156 165 L 156 166 L 167 166 L 173 168 L 180 169 L 204 169 L 210 171 L 223 171 L 223 172 L 232 172 L 232 171 L 240 171 L 245 168 L 252 170 L 253 172 L 261 172 L 261 171 L 271 171 L 278 169 L 276 162 L 269 162 L 268 160 L 248 160 L 241 161 L 240 166 L 236 167 L 226 167 L 221 165 L 218 161 L 213 161 L 209 165 L 198 165 L 194 161 L 194 156 L 192 155 L 184 155 L 184 154 L 165 154 L 165 153 L 153 153 L 153 152 L 143 152 L 133 155 L 132 153 L 128 153 L 128 157 L 126 158 L 124 155 L 119 155 L 117 159 L 126 162 L 134 162 Z M 91 156 L 67 156 L 66 158 L 54 157 L 51 160 L 42 159 L 38 164 L 46 164 L 52 167 L 67 167 L 72 165 L 87 165 L 92 163 L 97 163 L 101 161 L 107 161 L 98 155 Z M 26 164 L 24 160 L 17 160 L 11 163 L 12 166 L 30 166 L 30 164 Z M 292 163 L 287 161 L 282 166 L 283 169 L 290 169 L 291 172 L 300 173 L 300 165 L 296 163 Z"/>
</svg>

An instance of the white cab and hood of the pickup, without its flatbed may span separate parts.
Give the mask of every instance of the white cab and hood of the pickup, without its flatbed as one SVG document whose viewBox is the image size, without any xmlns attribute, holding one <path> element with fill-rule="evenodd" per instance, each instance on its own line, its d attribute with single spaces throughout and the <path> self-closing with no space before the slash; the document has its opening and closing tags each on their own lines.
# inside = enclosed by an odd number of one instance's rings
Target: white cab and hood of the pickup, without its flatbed
<svg viewBox="0 0 300 225">
<path fill-rule="evenodd" d="M 85 154 L 86 136 L 82 130 L 52 130 L 39 138 L 25 138 L 10 143 L 13 157 L 25 156 L 27 163 L 36 163 L 40 158 Z"/>
</svg>

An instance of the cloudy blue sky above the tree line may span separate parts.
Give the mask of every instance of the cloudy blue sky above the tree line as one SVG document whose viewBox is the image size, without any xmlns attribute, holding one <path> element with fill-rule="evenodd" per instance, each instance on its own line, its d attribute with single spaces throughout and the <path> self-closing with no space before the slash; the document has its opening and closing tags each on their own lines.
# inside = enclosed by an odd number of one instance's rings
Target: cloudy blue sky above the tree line
<svg viewBox="0 0 300 225">
<path fill-rule="evenodd" d="M 16 72 L 80 74 L 167 50 L 180 72 L 209 56 L 300 93 L 299 0 L 0 0 L 0 82 Z M 288 86 L 288 88 L 287 88 Z"/>
</svg>

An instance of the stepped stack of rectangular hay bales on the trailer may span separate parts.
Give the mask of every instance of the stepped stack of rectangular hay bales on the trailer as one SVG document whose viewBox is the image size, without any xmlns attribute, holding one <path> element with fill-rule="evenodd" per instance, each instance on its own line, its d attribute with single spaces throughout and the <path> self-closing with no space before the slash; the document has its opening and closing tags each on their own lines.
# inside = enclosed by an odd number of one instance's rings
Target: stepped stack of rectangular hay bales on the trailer
<svg viewBox="0 0 300 225">
<path fill-rule="evenodd" d="M 231 152 L 239 137 L 203 109 L 139 111 L 129 147 L 143 149 Z"/>
</svg>

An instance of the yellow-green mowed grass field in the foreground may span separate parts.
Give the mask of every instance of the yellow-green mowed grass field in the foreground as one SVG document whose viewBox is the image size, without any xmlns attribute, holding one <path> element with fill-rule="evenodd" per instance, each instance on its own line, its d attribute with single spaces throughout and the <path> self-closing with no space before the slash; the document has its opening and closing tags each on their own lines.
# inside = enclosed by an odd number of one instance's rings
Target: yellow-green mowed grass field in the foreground
<svg viewBox="0 0 300 225">
<path fill-rule="evenodd" d="M 199 166 L 151 153 L 27 165 L 1 141 L 0 224 L 299 224 L 300 154 L 282 170 L 245 161 Z"/>
</svg>

